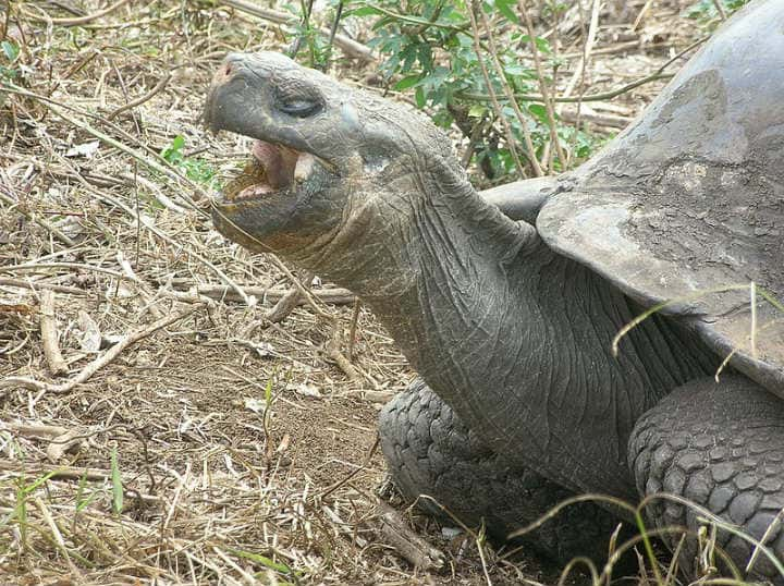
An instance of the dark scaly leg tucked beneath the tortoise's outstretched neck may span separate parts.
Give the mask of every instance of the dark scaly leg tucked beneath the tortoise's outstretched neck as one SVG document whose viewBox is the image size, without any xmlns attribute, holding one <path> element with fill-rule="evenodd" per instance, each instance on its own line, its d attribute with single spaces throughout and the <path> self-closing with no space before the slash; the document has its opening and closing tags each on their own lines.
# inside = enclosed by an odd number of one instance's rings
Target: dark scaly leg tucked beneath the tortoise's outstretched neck
<svg viewBox="0 0 784 586">
<path fill-rule="evenodd" d="M 393 481 L 406 499 L 429 495 L 469 527 L 483 520 L 497 541 L 574 496 L 485 448 L 421 379 L 384 406 L 379 427 Z M 426 512 L 445 517 L 431 501 L 417 502 Z M 586 556 L 601 569 L 618 523 L 605 510 L 581 502 L 562 510 L 524 540 L 561 564 Z"/>
</svg>

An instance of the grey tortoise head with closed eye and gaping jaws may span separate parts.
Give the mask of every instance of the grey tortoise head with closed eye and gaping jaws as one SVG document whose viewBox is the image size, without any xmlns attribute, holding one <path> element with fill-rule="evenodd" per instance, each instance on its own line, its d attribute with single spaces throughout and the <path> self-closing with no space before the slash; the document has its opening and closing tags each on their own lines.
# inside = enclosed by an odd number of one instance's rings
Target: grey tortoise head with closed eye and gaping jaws
<svg viewBox="0 0 784 586">
<path fill-rule="evenodd" d="M 378 221 L 377 209 L 363 213 L 368 206 L 416 197 L 390 188 L 414 170 L 462 176 L 449 142 L 420 114 L 278 53 L 230 54 L 212 80 L 205 122 L 255 138 L 246 169 L 213 202 L 217 229 L 295 259 L 345 241 L 371 216 Z"/>
</svg>

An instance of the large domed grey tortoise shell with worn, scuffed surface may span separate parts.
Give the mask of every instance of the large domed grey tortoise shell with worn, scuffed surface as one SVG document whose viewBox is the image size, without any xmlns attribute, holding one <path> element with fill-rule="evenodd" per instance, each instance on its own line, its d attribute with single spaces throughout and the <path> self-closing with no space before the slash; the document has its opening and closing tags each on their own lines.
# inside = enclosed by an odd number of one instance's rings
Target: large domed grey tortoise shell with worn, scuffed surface
<svg viewBox="0 0 784 586">
<path fill-rule="evenodd" d="M 784 2 L 726 22 L 537 229 L 784 398 Z"/>
</svg>

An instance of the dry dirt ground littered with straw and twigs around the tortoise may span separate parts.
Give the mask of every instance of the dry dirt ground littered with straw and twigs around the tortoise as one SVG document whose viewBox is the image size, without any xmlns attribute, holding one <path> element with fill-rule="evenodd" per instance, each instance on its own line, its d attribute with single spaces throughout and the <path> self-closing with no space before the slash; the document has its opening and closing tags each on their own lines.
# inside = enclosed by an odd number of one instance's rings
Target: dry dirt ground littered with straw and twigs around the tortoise
<svg viewBox="0 0 784 586">
<path fill-rule="evenodd" d="M 376 417 L 413 373 L 363 308 L 350 344 L 354 300 L 318 279 L 315 304 L 271 322 L 290 276 L 210 228 L 209 175 L 248 147 L 199 125 L 211 72 L 285 47 L 281 25 L 221 2 L 112 4 L 0 1 L 21 51 L 0 76 L 0 585 L 556 581 L 392 497 L 444 567 L 397 553 L 375 513 L 391 493 Z M 654 2 L 632 30 L 644 4 L 602 12 L 587 91 L 705 34 L 689 2 Z M 661 83 L 592 103 L 592 132 Z"/>
</svg>

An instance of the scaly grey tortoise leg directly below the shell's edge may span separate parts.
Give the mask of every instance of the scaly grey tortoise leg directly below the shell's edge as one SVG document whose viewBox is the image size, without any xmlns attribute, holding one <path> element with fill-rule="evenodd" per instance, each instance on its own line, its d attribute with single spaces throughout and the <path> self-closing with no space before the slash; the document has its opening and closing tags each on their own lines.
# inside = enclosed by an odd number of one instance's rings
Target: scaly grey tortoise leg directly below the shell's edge
<svg viewBox="0 0 784 586">
<path fill-rule="evenodd" d="M 629 463 L 641 496 L 684 497 L 760 539 L 784 508 L 784 401 L 739 376 L 689 382 L 637 422 Z M 647 513 L 657 527 L 698 528 L 698 513 L 672 501 L 657 499 Z M 726 530 L 716 542 L 743 572 L 754 546 Z M 781 524 L 771 527 L 765 545 L 784 561 Z M 681 557 L 688 572 L 697 567 L 696 553 L 691 539 Z M 763 554 L 749 577 L 784 584 Z"/>
</svg>

